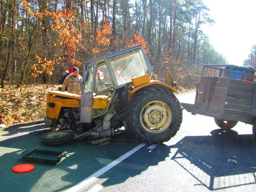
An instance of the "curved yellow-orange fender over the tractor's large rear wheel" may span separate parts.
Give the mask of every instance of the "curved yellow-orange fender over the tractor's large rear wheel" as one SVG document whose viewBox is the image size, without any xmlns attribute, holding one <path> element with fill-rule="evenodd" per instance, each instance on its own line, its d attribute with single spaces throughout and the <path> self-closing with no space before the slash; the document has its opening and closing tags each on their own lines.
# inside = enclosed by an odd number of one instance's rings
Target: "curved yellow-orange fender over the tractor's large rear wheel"
<svg viewBox="0 0 256 192">
<path fill-rule="evenodd" d="M 143 88 L 146 88 L 146 87 L 160 87 L 160 88 L 163 88 L 163 89 L 166 89 L 168 91 L 170 91 L 171 93 L 175 92 L 177 94 L 179 94 L 178 90 L 175 89 L 174 87 L 171 87 L 165 83 L 162 83 L 160 81 L 155 81 L 155 80 L 151 80 L 150 82 L 148 83 L 145 83 L 145 84 L 142 84 L 142 85 L 139 85 L 139 86 L 136 86 L 136 87 L 132 87 L 129 91 L 128 91 L 128 102 L 130 101 L 130 99 L 132 98 L 132 96 L 138 91 L 138 90 L 141 90 Z"/>
</svg>

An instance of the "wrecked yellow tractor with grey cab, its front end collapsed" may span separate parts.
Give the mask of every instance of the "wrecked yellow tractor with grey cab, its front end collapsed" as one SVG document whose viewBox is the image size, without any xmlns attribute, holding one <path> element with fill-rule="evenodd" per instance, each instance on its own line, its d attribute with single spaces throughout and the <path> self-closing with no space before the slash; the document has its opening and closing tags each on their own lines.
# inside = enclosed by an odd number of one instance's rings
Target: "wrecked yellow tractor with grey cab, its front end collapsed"
<svg viewBox="0 0 256 192">
<path fill-rule="evenodd" d="M 177 83 L 166 68 L 170 85 L 156 80 L 141 45 L 84 63 L 81 95 L 49 91 L 44 122 L 52 132 L 49 145 L 78 137 L 112 137 L 129 130 L 139 141 L 162 144 L 176 135 L 182 107 L 174 95 Z"/>
</svg>

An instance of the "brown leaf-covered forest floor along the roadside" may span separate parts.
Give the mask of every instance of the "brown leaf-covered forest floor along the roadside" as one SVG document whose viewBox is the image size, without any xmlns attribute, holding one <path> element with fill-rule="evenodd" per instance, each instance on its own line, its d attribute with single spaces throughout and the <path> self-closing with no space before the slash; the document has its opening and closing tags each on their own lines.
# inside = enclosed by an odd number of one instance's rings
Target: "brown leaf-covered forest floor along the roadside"
<svg viewBox="0 0 256 192">
<path fill-rule="evenodd" d="M 47 92 L 58 90 L 58 85 L 29 85 L 22 91 L 14 86 L 0 88 L 0 128 L 28 121 L 43 120 Z M 179 87 L 180 93 L 190 90 Z"/>
</svg>

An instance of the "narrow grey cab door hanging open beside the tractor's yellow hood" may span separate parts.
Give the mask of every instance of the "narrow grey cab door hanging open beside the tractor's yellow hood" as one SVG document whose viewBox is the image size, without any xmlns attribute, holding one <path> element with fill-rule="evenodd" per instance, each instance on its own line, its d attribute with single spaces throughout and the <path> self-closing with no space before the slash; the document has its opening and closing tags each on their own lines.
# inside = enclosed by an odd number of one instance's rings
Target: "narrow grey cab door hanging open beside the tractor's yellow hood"
<svg viewBox="0 0 256 192">
<path fill-rule="evenodd" d="M 94 84 L 97 70 L 97 61 L 92 61 L 84 67 L 83 89 L 80 103 L 80 122 L 91 123 Z"/>
</svg>

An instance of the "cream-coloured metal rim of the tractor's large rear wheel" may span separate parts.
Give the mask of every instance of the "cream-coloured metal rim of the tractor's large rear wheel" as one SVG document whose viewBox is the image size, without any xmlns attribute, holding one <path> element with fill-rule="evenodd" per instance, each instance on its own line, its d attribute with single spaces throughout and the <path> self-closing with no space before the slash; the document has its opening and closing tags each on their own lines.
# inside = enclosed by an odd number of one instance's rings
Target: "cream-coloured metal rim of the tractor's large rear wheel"
<svg viewBox="0 0 256 192">
<path fill-rule="evenodd" d="M 167 129 L 172 121 L 170 107 L 162 101 L 147 103 L 140 114 L 143 128 L 151 133 L 159 133 Z"/>
</svg>

